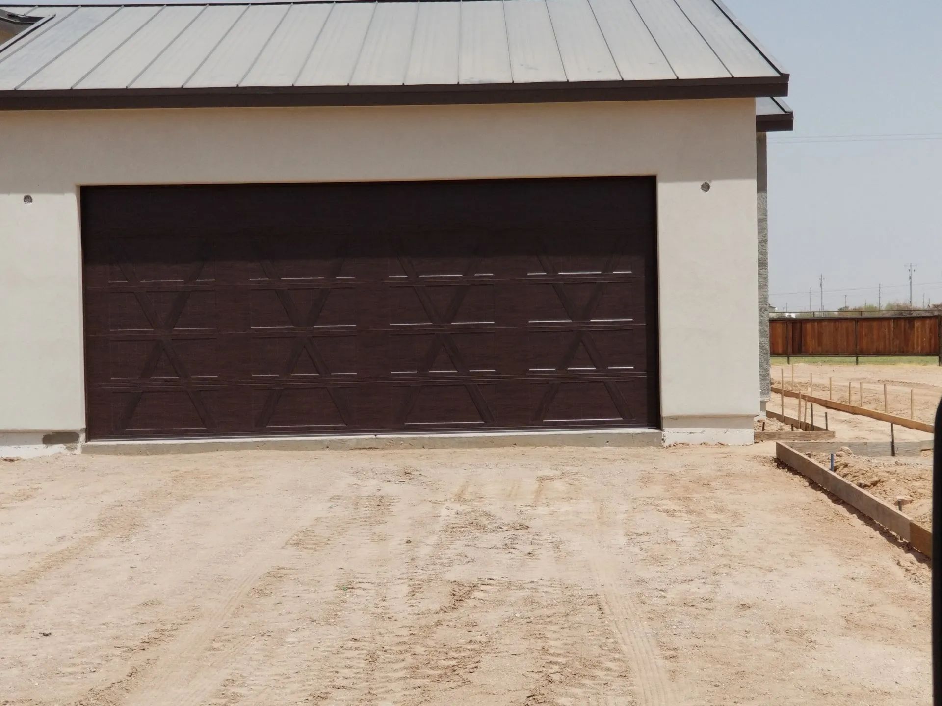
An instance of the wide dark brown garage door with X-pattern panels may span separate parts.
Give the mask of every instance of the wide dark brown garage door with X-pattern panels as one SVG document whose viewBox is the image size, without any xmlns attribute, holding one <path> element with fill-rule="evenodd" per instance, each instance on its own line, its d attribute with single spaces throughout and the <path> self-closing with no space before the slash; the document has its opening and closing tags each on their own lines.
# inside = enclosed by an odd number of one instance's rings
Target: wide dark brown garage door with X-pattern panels
<svg viewBox="0 0 942 706">
<path fill-rule="evenodd" d="M 91 439 L 658 426 L 648 178 L 82 190 Z"/>
</svg>

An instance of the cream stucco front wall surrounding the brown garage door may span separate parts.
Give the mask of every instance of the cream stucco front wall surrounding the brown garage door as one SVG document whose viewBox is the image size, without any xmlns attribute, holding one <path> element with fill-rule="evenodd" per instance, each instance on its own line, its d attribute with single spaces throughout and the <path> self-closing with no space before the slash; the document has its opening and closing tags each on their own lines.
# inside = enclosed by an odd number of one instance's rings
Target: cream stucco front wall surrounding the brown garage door
<svg viewBox="0 0 942 706">
<path fill-rule="evenodd" d="M 748 442 L 754 109 L 731 99 L 0 113 L 0 430 L 85 426 L 79 185 L 654 174 L 665 438 Z"/>
</svg>

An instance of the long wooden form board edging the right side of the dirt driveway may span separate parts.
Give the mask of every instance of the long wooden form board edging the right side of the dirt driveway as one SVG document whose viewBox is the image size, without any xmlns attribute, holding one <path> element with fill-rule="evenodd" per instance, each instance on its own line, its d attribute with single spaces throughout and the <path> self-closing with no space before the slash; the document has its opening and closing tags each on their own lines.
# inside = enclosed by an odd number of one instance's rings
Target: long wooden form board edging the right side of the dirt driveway
<svg viewBox="0 0 942 706">
<path fill-rule="evenodd" d="M 926 556 L 932 556 L 932 532 L 918 522 L 910 520 L 892 505 L 871 495 L 865 489 L 857 488 L 850 481 L 832 473 L 786 443 L 779 442 L 775 445 L 775 457 L 871 520 L 882 524 L 914 549 Z"/>
</svg>

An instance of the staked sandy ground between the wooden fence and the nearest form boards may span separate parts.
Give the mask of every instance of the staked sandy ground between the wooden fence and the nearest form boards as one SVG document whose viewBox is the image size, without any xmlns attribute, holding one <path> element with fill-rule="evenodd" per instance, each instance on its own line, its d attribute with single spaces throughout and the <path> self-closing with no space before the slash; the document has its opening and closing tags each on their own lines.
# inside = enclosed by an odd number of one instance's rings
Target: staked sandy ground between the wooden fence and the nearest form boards
<svg viewBox="0 0 942 706">
<path fill-rule="evenodd" d="M 937 365 L 825 365 L 795 363 L 794 382 L 792 383 L 790 365 L 772 365 L 772 385 L 779 385 L 784 378 L 788 390 L 800 390 L 807 393 L 809 383 L 814 384 L 814 393 L 819 397 L 833 394 L 840 402 L 848 401 L 853 395 L 852 404 L 860 405 L 860 385 L 863 384 L 864 407 L 884 411 L 883 386 L 886 383 L 886 396 L 889 411 L 903 417 L 918 419 L 932 424 L 939 398 L 942 397 L 942 367 Z M 910 417 L 910 390 L 913 394 L 914 417 Z M 779 395 L 772 394 L 769 409 L 781 411 Z M 794 417 L 798 413 L 798 400 L 785 400 L 786 414 Z M 824 409 L 815 409 L 815 424 L 823 425 Z M 828 410 L 828 425 L 835 429 L 838 439 L 889 441 L 890 429 L 885 422 L 844 414 Z M 926 434 L 913 429 L 896 427 L 895 433 L 901 440 L 931 439 Z"/>
</svg>

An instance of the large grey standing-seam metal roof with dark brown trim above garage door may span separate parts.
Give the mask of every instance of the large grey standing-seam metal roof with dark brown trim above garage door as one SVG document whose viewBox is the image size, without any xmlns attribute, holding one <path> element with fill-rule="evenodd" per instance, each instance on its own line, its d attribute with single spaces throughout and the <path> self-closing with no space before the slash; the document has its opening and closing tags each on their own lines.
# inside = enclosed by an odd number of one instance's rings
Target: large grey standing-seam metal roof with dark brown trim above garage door
<svg viewBox="0 0 942 706">
<path fill-rule="evenodd" d="M 785 95 L 719 0 L 10 7 L 0 108 Z"/>
</svg>

